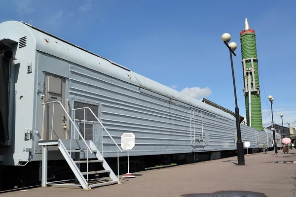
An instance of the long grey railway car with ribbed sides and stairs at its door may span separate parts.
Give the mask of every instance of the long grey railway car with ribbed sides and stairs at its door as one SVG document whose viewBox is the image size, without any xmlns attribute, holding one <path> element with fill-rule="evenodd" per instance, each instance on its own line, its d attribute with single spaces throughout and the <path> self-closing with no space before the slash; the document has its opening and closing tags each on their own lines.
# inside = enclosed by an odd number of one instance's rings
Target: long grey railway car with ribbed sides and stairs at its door
<svg viewBox="0 0 296 197">
<path fill-rule="evenodd" d="M 220 158 L 236 150 L 232 115 L 29 24 L 0 24 L 0 54 L 0 77 L 7 79 L 1 82 L 1 166 L 31 166 L 39 175 L 40 141 L 51 139 L 91 141 L 112 163 L 125 132 L 136 136 L 129 153 L 135 165 L 197 161 L 205 153 Z M 251 149 L 264 141 L 272 147 L 272 131 L 241 125 L 241 132 Z M 48 168 L 65 160 L 58 149 L 49 152 Z M 123 161 L 126 156 L 119 153 Z"/>
</svg>

